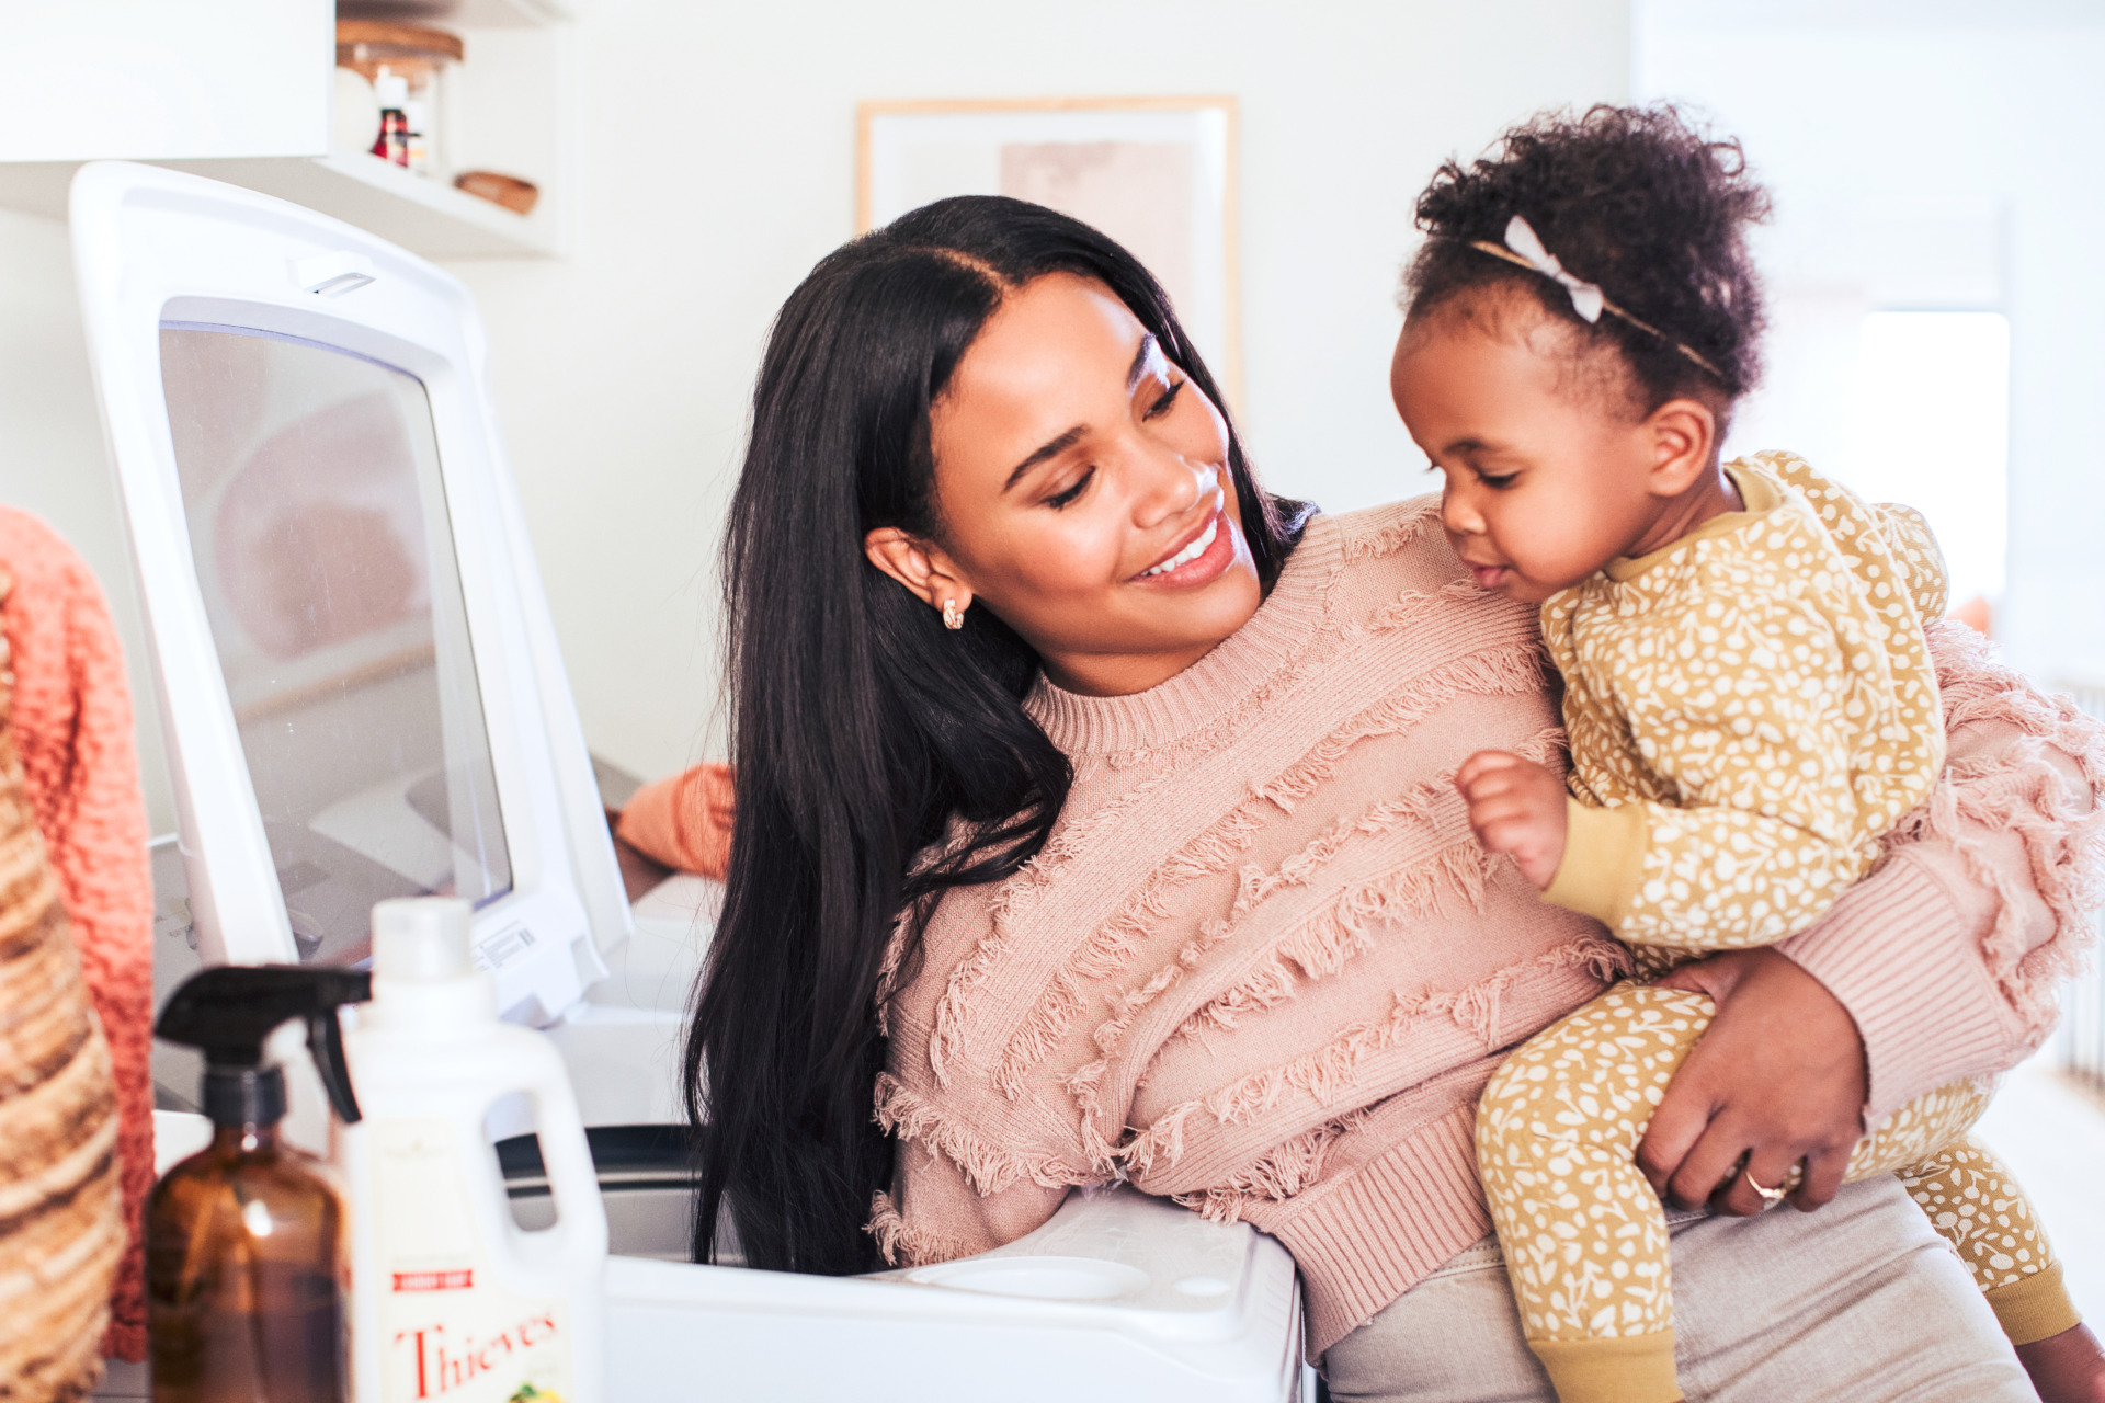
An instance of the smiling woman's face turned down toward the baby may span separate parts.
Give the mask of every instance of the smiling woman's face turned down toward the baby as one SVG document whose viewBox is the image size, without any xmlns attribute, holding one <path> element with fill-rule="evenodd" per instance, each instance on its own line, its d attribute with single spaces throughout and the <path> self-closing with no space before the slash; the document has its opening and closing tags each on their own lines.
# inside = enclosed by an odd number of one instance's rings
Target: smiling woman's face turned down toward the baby
<svg viewBox="0 0 2105 1403">
<path fill-rule="evenodd" d="M 935 406 L 939 538 L 869 557 L 933 608 L 991 608 L 1059 686 L 1143 692 L 1257 612 L 1227 425 L 1103 284 L 1010 292 Z"/>
</svg>

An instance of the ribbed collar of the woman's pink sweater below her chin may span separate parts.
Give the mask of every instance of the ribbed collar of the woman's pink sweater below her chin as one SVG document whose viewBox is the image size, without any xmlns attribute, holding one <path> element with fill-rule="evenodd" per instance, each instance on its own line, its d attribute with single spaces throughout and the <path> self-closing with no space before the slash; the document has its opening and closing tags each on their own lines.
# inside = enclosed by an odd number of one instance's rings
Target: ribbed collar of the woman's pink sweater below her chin
<svg viewBox="0 0 2105 1403">
<path fill-rule="evenodd" d="M 1145 751 L 1181 740 L 1301 656 L 1322 625 L 1324 587 L 1343 560 L 1343 530 L 1318 515 L 1250 621 L 1191 667 L 1130 696 L 1084 696 L 1040 677 L 1023 709 L 1065 755 Z"/>
</svg>

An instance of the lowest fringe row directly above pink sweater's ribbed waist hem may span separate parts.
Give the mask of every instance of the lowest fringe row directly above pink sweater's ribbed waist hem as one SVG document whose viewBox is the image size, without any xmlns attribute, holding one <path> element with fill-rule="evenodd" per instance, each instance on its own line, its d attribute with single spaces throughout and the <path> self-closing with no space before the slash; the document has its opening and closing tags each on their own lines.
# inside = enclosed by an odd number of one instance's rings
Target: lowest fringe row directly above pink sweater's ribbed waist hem
<svg viewBox="0 0 2105 1403">
<path fill-rule="evenodd" d="M 1463 989 L 1396 995 L 1387 1018 L 1347 1024 L 1343 1033 L 1316 1052 L 1282 1066 L 1238 1077 L 1206 1096 L 1170 1106 L 1145 1132 L 1120 1146 L 1114 1157 L 1130 1178 L 1139 1178 L 1158 1163 L 1164 1167 L 1177 1163 L 1183 1153 L 1185 1123 L 1200 1111 L 1221 1125 L 1248 1125 L 1271 1113 L 1288 1092 L 1299 1092 L 1318 1106 L 1337 1104 L 1358 1081 L 1360 1064 L 1368 1056 L 1396 1048 L 1423 1018 L 1450 1018 L 1476 1033 L 1484 1041 L 1484 1050 L 1490 1052 L 1503 1041 L 1499 1012 L 1505 991 L 1516 980 L 1562 970 L 1585 970 L 1608 982 L 1629 972 L 1629 951 L 1604 936 L 1591 936 L 1503 965 Z"/>
</svg>

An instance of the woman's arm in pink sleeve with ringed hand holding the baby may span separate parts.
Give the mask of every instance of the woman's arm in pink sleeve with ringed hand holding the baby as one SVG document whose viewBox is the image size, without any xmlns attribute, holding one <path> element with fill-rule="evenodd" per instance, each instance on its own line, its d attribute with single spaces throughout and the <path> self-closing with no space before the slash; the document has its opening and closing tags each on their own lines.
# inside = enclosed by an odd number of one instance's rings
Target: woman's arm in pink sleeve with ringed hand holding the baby
<svg viewBox="0 0 2105 1403">
<path fill-rule="evenodd" d="M 2006 1071 L 2054 1026 L 2105 873 L 2105 726 L 2036 692 L 1962 625 L 1928 629 L 1947 761 L 1890 856 L 1812 930 L 1682 965 L 1718 1018 L 1638 1161 L 1692 1203 L 1739 1155 L 1804 1155 L 1800 1207 L 1833 1197 L 1867 1123 L 1918 1094 Z M 1758 1212 L 1735 1178 L 1711 1199 Z"/>
</svg>

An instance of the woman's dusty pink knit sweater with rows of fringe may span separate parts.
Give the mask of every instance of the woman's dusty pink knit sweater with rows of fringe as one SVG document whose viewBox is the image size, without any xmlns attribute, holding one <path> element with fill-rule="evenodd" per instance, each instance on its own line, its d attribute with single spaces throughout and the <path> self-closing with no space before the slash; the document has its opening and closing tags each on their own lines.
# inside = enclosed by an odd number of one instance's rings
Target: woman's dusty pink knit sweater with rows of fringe
<svg viewBox="0 0 2105 1403">
<path fill-rule="evenodd" d="M 1076 770 L 1052 841 L 888 963 L 893 1262 L 1126 1178 L 1278 1237 L 1320 1353 L 1490 1231 L 1478 1092 L 1625 957 L 1463 820 L 1463 757 L 1558 761 L 1562 732 L 1535 610 L 1463 576 L 1436 507 L 1318 517 L 1250 623 L 1149 692 L 1029 698 Z M 1783 947 L 1855 1014 L 1871 1119 L 2044 1037 L 2105 841 L 2101 730 L 1930 637 L 1947 774 Z"/>
</svg>

